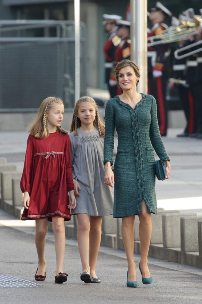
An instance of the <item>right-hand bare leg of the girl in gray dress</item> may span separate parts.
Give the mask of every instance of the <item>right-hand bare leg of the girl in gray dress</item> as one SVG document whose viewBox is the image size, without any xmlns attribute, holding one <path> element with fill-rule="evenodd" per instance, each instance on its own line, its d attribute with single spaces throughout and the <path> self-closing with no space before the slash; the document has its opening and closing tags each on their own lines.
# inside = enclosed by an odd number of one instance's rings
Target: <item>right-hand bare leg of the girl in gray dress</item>
<svg viewBox="0 0 202 304">
<path fill-rule="evenodd" d="M 95 266 L 101 241 L 101 224 L 102 216 L 90 216 L 89 266 L 92 278 L 97 278 L 95 274 Z"/>
</svg>

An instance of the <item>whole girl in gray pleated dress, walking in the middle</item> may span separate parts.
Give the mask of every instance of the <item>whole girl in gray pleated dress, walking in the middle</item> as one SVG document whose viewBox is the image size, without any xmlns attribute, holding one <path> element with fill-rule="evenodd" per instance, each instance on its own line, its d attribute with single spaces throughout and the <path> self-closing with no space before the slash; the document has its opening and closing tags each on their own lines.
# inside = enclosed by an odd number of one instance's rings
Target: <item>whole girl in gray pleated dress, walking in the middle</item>
<svg viewBox="0 0 202 304">
<path fill-rule="evenodd" d="M 80 279 L 100 283 L 95 265 L 101 240 L 102 216 L 113 214 L 110 187 L 104 184 L 104 125 L 95 100 L 81 97 L 71 123 L 71 157 L 77 207 L 72 214 L 78 219 L 78 245 L 82 263 Z"/>
</svg>

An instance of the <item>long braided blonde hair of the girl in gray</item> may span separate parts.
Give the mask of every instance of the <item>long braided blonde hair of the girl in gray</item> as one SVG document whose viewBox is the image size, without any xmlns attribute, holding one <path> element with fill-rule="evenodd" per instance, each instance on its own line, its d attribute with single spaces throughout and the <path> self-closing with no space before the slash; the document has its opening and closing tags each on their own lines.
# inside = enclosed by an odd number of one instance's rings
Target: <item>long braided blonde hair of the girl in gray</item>
<svg viewBox="0 0 202 304">
<path fill-rule="evenodd" d="M 93 125 L 95 127 L 97 127 L 100 137 L 103 137 L 105 127 L 104 127 L 104 124 L 99 117 L 97 104 L 96 104 L 95 100 L 90 96 L 83 96 L 77 101 L 77 103 L 75 105 L 75 108 L 74 108 L 74 113 L 73 113 L 73 118 L 72 118 L 70 131 L 71 132 L 75 131 L 74 136 L 78 135 L 77 129 L 81 126 L 81 121 L 77 116 L 78 115 L 78 109 L 79 109 L 80 103 L 84 103 L 84 102 L 90 102 L 94 106 L 94 108 L 95 108 L 95 120 L 93 122 Z"/>
</svg>

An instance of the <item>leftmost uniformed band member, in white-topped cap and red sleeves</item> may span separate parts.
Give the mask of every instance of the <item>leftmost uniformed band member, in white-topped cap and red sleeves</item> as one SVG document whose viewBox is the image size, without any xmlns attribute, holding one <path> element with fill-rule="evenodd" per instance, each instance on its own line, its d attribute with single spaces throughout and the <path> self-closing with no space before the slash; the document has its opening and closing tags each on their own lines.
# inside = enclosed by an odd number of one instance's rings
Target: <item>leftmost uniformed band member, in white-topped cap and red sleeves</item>
<svg viewBox="0 0 202 304">
<path fill-rule="evenodd" d="M 105 31 L 108 33 L 107 40 L 104 44 L 104 56 L 106 59 L 105 62 L 105 82 L 107 83 L 108 90 L 110 92 L 110 97 L 113 98 L 115 95 L 117 95 L 117 82 L 116 81 L 110 81 L 110 74 L 112 69 L 112 63 L 115 60 L 114 53 L 116 47 L 121 42 L 120 37 L 117 35 L 117 21 L 121 20 L 122 17 L 118 15 L 103 15 L 103 25 L 105 28 Z"/>
</svg>

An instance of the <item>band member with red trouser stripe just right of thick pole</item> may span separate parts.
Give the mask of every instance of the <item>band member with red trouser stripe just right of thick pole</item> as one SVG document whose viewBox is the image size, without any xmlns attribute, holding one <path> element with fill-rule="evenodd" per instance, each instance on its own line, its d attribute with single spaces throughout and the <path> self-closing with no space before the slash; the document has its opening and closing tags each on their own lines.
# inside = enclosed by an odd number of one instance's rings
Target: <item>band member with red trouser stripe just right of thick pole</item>
<svg viewBox="0 0 202 304">
<path fill-rule="evenodd" d="M 167 29 L 168 26 L 163 23 L 164 19 L 166 16 L 172 16 L 172 13 L 160 2 L 156 3 L 155 8 L 151 8 L 150 13 L 149 18 L 153 27 L 148 37 L 159 35 Z M 168 44 L 154 45 L 148 50 L 148 94 L 153 95 L 156 99 L 159 129 L 162 136 L 167 134 L 166 83 L 169 76 L 169 53 Z"/>
</svg>

